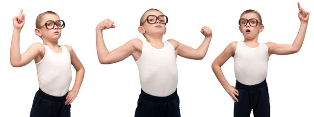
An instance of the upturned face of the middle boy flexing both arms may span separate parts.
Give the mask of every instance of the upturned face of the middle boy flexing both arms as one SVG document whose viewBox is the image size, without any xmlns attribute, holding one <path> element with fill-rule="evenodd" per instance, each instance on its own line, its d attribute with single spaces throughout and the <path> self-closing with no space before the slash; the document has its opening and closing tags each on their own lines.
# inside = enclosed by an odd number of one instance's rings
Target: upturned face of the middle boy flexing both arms
<svg viewBox="0 0 314 117">
<path fill-rule="evenodd" d="M 154 15 L 154 16 L 160 16 L 160 15 L 163 15 L 161 12 L 159 11 L 156 11 L 156 10 L 151 10 L 151 11 L 148 11 L 145 13 L 144 15 L 144 20 L 142 20 L 142 22 L 144 22 L 142 24 L 142 27 L 143 30 L 145 31 L 146 35 L 163 35 L 166 33 L 166 24 L 165 23 L 161 23 L 160 22 L 160 19 L 159 20 L 156 20 L 156 23 L 148 23 L 146 18 L 147 16 L 149 15 Z"/>
</svg>

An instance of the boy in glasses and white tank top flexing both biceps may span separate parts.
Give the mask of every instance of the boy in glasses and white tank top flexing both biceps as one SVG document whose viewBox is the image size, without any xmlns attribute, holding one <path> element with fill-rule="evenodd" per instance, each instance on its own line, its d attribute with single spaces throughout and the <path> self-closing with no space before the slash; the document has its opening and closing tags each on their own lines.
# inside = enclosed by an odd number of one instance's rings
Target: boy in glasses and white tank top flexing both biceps
<svg viewBox="0 0 314 117">
<path fill-rule="evenodd" d="M 180 117 L 177 55 L 188 59 L 203 59 L 207 53 L 212 38 L 209 27 L 202 28 L 201 33 L 205 39 L 197 49 L 193 49 L 174 39 L 162 42 L 167 22 L 167 16 L 161 11 L 147 10 L 141 17 L 138 27 L 138 31 L 144 35 L 146 41 L 131 39 L 111 52 L 105 46 L 103 30 L 115 28 L 113 21 L 103 20 L 96 27 L 96 45 L 100 63 L 115 63 L 132 55 L 138 66 L 142 90 L 135 117 Z"/>
</svg>

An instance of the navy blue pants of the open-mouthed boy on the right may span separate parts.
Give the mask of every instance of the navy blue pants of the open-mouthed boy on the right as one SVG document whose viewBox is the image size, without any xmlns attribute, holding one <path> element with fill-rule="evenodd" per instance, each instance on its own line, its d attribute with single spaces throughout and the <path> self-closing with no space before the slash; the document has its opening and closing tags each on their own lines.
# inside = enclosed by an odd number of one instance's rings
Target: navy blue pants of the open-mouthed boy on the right
<svg viewBox="0 0 314 117">
<path fill-rule="evenodd" d="M 245 85 L 236 81 L 238 102 L 235 102 L 234 117 L 270 117 L 269 94 L 266 79 L 259 84 Z"/>
</svg>

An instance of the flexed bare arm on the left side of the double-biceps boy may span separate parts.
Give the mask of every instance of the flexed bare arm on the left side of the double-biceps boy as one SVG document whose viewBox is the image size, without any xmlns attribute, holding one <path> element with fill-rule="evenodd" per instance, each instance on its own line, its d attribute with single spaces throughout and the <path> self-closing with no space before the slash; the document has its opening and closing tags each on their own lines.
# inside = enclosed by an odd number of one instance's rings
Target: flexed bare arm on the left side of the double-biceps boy
<svg viewBox="0 0 314 117">
<path fill-rule="evenodd" d="M 138 49 L 137 46 L 141 41 L 139 39 L 132 39 L 119 48 L 109 52 L 105 46 L 103 38 L 103 30 L 115 28 L 113 21 L 106 19 L 100 22 L 96 27 L 96 47 L 99 62 L 102 64 L 111 64 L 133 55 Z M 140 45 L 141 46 L 141 45 Z"/>
</svg>

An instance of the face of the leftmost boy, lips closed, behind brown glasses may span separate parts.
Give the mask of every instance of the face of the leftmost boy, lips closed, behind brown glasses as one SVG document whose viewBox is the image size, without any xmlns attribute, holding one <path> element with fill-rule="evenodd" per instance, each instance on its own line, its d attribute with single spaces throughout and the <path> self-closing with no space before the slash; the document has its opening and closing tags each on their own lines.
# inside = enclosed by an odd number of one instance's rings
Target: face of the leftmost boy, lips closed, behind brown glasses
<svg viewBox="0 0 314 117">
<path fill-rule="evenodd" d="M 41 32 L 40 37 L 42 39 L 52 39 L 52 41 L 55 41 L 61 37 L 61 28 L 58 28 L 57 25 L 55 24 L 52 29 L 47 29 L 45 26 L 45 23 L 48 20 L 56 21 L 56 20 L 60 20 L 60 18 L 55 14 L 44 15 L 40 22 L 41 27 L 38 28 L 39 31 Z"/>
</svg>

